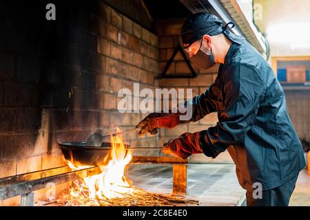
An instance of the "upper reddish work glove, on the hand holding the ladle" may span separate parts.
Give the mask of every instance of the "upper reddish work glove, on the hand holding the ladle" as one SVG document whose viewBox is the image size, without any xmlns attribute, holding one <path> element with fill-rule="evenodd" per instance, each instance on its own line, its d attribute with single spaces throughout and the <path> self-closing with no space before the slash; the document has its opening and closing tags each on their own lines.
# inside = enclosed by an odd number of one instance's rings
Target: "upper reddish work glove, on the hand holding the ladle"
<svg viewBox="0 0 310 220">
<path fill-rule="evenodd" d="M 180 120 L 179 112 L 176 113 L 150 113 L 136 127 L 141 128 L 138 135 L 145 133 L 156 134 L 158 128 L 172 129 L 178 124 L 189 123 L 189 120 Z"/>
</svg>

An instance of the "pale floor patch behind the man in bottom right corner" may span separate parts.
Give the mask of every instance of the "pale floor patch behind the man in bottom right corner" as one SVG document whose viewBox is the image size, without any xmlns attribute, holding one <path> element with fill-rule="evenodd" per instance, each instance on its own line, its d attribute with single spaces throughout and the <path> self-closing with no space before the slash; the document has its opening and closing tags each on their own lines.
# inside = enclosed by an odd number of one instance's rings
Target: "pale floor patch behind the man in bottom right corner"
<svg viewBox="0 0 310 220">
<path fill-rule="evenodd" d="M 302 170 L 298 175 L 289 206 L 310 206 L 310 174 Z"/>
</svg>

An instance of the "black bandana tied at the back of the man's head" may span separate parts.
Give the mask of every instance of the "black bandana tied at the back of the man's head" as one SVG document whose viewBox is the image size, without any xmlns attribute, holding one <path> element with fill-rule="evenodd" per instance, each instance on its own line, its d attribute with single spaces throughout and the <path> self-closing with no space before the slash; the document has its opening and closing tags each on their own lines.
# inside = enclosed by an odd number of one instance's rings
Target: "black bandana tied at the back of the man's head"
<svg viewBox="0 0 310 220">
<path fill-rule="evenodd" d="M 214 36 L 222 33 L 224 33 L 231 41 L 240 43 L 238 42 L 238 38 L 236 39 L 236 34 L 232 34 L 227 30 L 227 27 L 230 24 L 231 28 L 234 28 L 234 22 L 229 22 L 227 25 L 223 26 L 222 21 L 218 17 L 207 12 L 192 14 L 186 19 L 181 30 L 183 44 L 191 45 L 195 41 L 201 39 L 203 34 Z"/>
</svg>

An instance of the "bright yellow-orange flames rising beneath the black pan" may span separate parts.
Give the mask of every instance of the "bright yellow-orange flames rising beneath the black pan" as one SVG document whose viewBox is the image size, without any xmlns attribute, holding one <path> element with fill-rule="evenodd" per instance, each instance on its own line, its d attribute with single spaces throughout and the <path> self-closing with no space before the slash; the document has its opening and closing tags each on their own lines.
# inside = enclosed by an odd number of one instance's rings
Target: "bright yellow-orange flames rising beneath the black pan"
<svg viewBox="0 0 310 220">
<path fill-rule="evenodd" d="M 120 131 L 117 129 L 116 132 Z M 79 186 L 70 188 L 72 197 L 87 196 L 88 199 L 113 199 L 123 197 L 124 193 L 131 193 L 130 183 L 125 177 L 125 169 L 132 159 L 132 153 L 127 149 L 125 141 L 121 135 L 110 137 L 111 150 L 106 166 L 101 166 L 102 173 L 85 177 Z M 70 161 L 68 166 L 74 170 L 88 168 L 73 164 Z"/>
</svg>

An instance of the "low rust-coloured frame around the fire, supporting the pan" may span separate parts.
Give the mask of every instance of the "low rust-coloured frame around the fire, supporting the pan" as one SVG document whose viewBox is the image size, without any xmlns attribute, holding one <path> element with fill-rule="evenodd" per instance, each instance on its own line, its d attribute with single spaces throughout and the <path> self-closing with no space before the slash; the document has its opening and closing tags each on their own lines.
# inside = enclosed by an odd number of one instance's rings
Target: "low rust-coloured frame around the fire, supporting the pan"
<svg viewBox="0 0 310 220">
<path fill-rule="evenodd" d="M 136 164 L 168 164 L 173 165 L 174 192 L 186 194 L 187 159 L 178 157 L 132 157 Z M 101 173 L 99 166 L 72 171 L 69 166 L 61 166 L 33 173 L 25 173 L 0 179 L 0 200 L 22 195 L 21 203 L 30 206 L 33 201 L 32 192 L 46 188 L 48 183 L 63 184 L 65 182 L 90 177 Z M 33 202 L 32 202 L 33 203 Z"/>
</svg>

